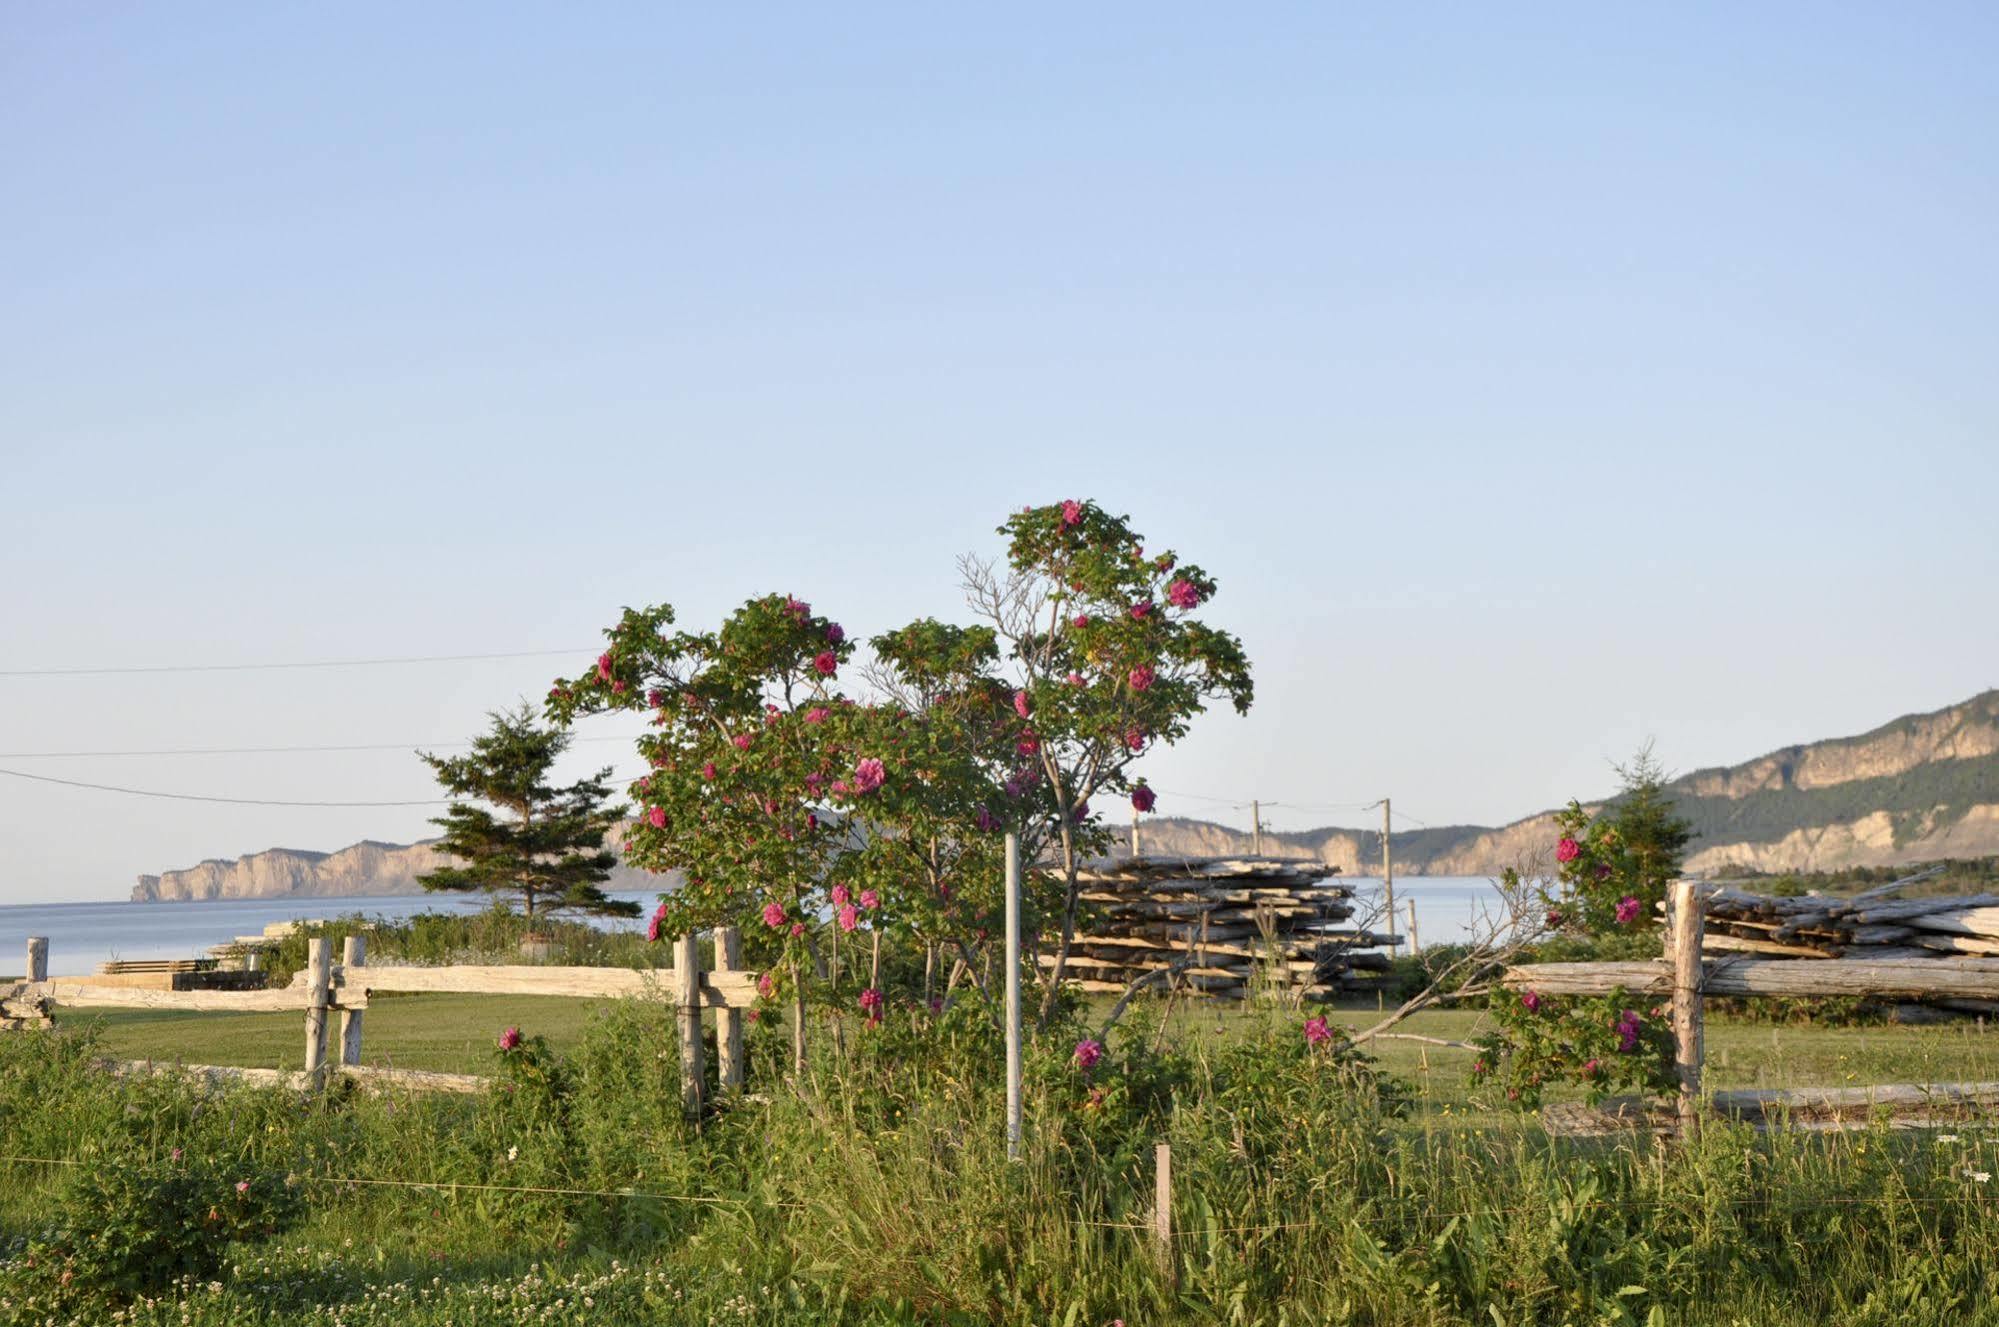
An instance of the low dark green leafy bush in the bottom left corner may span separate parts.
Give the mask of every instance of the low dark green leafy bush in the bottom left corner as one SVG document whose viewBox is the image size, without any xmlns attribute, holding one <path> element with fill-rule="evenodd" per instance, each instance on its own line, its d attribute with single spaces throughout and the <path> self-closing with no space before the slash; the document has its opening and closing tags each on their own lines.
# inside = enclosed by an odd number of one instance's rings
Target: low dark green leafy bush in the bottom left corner
<svg viewBox="0 0 1999 1327">
<path fill-rule="evenodd" d="M 0 1269 L 0 1295 L 50 1307 L 160 1295 L 208 1281 L 236 1243 L 304 1219 L 294 1179 L 256 1165 L 190 1157 L 100 1155 L 56 1195 L 56 1223 Z"/>
</svg>

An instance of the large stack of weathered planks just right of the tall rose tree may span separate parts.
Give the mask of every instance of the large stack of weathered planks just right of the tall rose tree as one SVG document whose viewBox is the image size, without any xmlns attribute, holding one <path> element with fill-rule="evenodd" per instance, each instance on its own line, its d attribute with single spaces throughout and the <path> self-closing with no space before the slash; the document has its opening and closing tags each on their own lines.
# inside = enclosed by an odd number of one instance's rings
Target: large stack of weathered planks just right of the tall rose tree
<svg viewBox="0 0 1999 1327">
<path fill-rule="evenodd" d="M 1265 975 L 1307 995 L 1371 987 L 1399 943 L 1353 925 L 1353 891 L 1333 869 L 1271 857 L 1125 857 L 1081 875 L 1085 921 L 1067 973 L 1085 991 L 1123 991 L 1169 973 L 1183 991 L 1241 997 Z M 1043 953 L 1041 965 L 1053 967 Z M 1259 973 L 1261 969 L 1261 973 Z"/>
</svg>

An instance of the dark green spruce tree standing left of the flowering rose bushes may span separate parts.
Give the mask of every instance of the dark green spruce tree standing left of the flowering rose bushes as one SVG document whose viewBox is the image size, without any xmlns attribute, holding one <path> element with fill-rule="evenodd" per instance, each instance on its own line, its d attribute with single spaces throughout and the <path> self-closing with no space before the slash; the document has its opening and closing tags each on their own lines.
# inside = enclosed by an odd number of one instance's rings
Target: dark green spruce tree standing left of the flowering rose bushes
<svg viewBox="0 0 1999 1327">
<path fill-rule="evenodd" d="M 454 797 L 430 823 L 444 829 L 438 847 L 464 865 L 448 865 L 418 879 L 426 889 L 472 891 L 512 899 L 528 921 L 552 913 L 636 917 L 640 905 L 604 893 L 618 855 L 604 835 L 620 821 L 608 807 L 610 769 L 568 787 L 548 781 L 548 771 L 568 749 L 570 733 L 536 723 L 524 701 L 494 711 L 492 731 L 472 741 L 470 755 L 418 755 Z M 498 813 L 488 807 L 498 807 Z"/>
</svg>

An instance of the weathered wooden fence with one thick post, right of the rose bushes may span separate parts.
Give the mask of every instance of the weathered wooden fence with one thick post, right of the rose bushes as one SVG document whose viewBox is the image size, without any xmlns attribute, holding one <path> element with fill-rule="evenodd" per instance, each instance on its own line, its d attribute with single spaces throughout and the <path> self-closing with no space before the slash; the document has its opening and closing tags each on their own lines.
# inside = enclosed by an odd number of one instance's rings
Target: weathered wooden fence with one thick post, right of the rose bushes
<svg viewBox="0 0 1999 1327">
<path fill-rule="evenodd" d="M 1673 1069 L 1679 1081 L 1677 1115 L 1691 1121 L 1701 1099 L 1703 995 L 1903 995 L 1999 999 L 1999 959 L 1759 959 L 1703 957 L 1703 891 L 1689 879 L 1673 881 L 1667 895 L 1665 957 L 1619 963 L 1523 963 L 1505 971 L 1511 989 L 1541 995 L 1669 995 Z M 1929 1087 L 1867 1087 L 1867 1101 L 1897 1093 L 1925 1099 L 1987 1099 L 1991 1083 L 1941 1083 Z M 1719 1097 L 1721 1093 L 1717 1093 Z"/>
</svg>

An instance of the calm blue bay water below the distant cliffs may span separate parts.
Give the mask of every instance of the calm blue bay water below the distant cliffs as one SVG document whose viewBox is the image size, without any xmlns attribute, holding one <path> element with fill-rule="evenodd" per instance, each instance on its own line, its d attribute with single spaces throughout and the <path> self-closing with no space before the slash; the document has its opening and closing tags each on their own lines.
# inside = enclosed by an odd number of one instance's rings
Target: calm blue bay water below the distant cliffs
<svg viewBox="0 0 1999 1327">
<path fill-rule="evenodd" d="M 1357 915 L 1379 907 L 1381 881 L 1349 877 Z M 650 909 L 654 891 L 626 891 Z M 1463 939 L 1479 907 L 1493 901 L 1483 877 L 1409 877 L 1395 881 L 1395 931 L 1407 933 L 1407 907 L 1425 945 Z M 96 971 L 108 959 L 182 959 L 208 953 L 238 935 L 256 935 L 272 921 L 312 917 L 410 917 L 420 911 L 478 911 L 484 897 L 428 893 L 416 897 L 228 899 L 216 903 L 16 903 L 0 907 L 0 973 L 18 975 L 30 935 L 48 935 L 48 969 L 56 975 Z M 606 929 L 644 929 L 646 919 L 600 919 Z M 1375 929 L 1387 929 L 1375 923 Z"/>
</svg>

